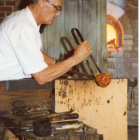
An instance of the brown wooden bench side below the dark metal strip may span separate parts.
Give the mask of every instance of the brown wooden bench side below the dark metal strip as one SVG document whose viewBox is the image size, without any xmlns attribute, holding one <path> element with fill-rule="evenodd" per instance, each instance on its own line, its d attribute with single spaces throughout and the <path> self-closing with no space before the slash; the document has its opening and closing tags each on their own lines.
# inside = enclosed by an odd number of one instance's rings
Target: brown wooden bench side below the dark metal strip
<svg viewBox="0 0 140 140">
<path fill-rule="evenodd" d="M 22 100 L 25 105 L 30 107 L 49 107 L 51 105 L 51 89 L 6 91 L 5 83 L 0 82 L 0 116 L 3 111 L 6 111 L 6 116 L 9 116 L 7 112 L 12 111 L 14 108 L 12 104 L 16 100 Z"/>
</svg>

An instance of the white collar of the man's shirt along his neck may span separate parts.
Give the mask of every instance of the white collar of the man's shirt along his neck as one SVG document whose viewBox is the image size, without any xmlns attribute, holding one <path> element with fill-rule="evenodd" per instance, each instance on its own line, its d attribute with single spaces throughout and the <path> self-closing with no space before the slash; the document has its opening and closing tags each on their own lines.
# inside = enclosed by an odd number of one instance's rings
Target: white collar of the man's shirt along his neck
<svg viewBox="0 0 140 140">
<path fill-rule="evenodd" d="M 30 11 L 30 9 L 28 8 L 28 6 L 25 8 L 25 12 L 27 13 L 28 18 L 31 20 L 31 22 L 38 28 L 38 30 L 40 30 L 40 26 L 41 25 L 37 25 L 32 12 Z"/>
</svg>

